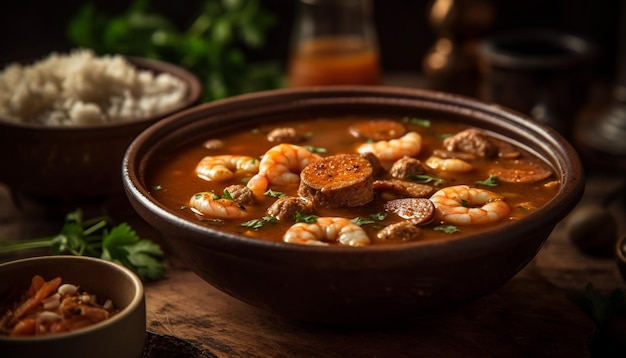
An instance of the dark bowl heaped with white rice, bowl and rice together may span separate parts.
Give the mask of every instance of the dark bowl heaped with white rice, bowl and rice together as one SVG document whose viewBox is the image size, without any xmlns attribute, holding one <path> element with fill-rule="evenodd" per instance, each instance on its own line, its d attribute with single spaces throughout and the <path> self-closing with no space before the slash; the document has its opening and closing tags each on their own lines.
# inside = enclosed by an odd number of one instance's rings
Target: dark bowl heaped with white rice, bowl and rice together
<svg viewBox="0 0 626 358">
<path fill-rule="evenodd" d="M 0 72 L 0 182 L 18 207 L 120 194 L 128 145 L 201 92 L 177 65 L 88 49 L 10 63 Z"/>
</svg>

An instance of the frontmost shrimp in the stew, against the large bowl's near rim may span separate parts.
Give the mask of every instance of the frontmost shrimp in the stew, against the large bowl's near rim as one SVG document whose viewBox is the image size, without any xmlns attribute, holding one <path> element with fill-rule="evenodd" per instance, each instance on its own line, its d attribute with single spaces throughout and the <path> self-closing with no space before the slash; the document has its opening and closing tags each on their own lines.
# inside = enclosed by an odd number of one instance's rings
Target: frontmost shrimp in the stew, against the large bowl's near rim
<svg viewBox="0 0 626 358">
<path fill-rule="evenodd" d="M 291 244 L 327 246 L 336 241 L 346 246 L 366 246 L 370 243 L 367 233 L 350 219 L 320 217 L 315 223 L 296 223 L 283 235 L 283 241 Z"/>
</svg>

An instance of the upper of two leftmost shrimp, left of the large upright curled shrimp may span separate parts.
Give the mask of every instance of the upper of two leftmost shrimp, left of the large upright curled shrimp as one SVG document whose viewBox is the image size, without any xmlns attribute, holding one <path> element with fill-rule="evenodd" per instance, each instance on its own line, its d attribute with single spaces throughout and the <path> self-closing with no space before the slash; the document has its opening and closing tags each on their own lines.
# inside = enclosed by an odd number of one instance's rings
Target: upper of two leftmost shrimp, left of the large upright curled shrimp
<svg viewBox="0 0 626 358">
<path fill-rule="evenodd" d="M 196 174 L 207 181 L 223 181 L 235 176 L 235 172 L 256 173 L 259 161 L 245 155 L 206 156 L 196 166 Z"/>
</svg>

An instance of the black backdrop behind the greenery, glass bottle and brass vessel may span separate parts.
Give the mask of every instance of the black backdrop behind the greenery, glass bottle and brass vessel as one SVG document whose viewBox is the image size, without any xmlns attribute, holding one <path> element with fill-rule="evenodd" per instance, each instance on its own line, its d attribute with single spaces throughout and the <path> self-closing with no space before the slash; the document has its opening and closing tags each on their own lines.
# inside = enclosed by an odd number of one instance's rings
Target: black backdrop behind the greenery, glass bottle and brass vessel
<svg viewBox="0 0 626 358">
<path fill-rule="evenodd" d="M 435 33 L 428 18 L 431 0 L 373 0 L 383 68 L 389 71 L 421 71 L 421 62 L 433 44 Z M 461 3 L 467 0 L 457 0 Z M 0 14 L 0 63 L 42 56 L 69 49 L 67 20 L 84 0 L 16 1 Z M 100 0 L 96 6 L 111 13 L 125 10 L 130 1 Z M 198 10 L 199 0 L 152 1 L 159 12 L 186 26 Z M 295 0 L 263 0 L 279 23 L 270 32 L 267 46 L 252 59 L 284 61 Z M 616 67 L 620 0 L 493 0 L 496 18 L 487 34 L 510 29 L 541 27 L 564 30 L 590 38 L 601 50 L 596 63 L 600 76 L 612 78 Z"/>
</svg>

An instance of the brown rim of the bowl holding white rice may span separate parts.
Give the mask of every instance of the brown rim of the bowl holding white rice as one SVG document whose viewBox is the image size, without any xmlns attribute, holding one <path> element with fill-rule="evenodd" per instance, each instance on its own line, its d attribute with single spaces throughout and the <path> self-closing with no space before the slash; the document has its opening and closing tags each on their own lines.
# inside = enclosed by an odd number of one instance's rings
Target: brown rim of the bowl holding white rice
<svg viewBox="0 0 626 358">
<path fill-rule="evenodd" d="M 172 114 L 188 108 L 192 106 L 194 103 L 200 100 L 200 96 L 202 95 L 202 84 L 198 77 L 188 71 L 187 69 L 175 65 L 170 62 L 165 62 L 161 60 L 156 60 L 152 58 L 145 57 L 133 57 L 133 56 L 123 56 L 126 58 L 131 64 L 136 66 L 138 69 L 149 70 L 154 73 L 169 73 L 178 77 L 180 80 L 187 84 L 187 95 L 183 102 L 178 104 L 177 106 L 161 112 L 154 114 L 152 116 L 140 119 L 126 120 L 120 122 L 104 122 L 104 123 L 94 123 L 94 124 L 82 124 L 82 125 L 68 125 L 68 126 L 46 126 L 42 124 L 34 124 L 34 123 L 21 123 L 21 122 L 12 122 L 7 120 L 0 120 L 0 126 L 13 127 L 16 129 L 22 130 L 38 130 L 38 131 L 50 131 L 50 132 L 65 132 L 68 135 L 75 136 L 77 132 L 82 132 L 80 135 L 86 135 L 88 132 L 95 132 L 97 136 L 102 135 L 103 130 L 120 130 L 120 129 L 130 129 L 133 127 L 144 127 L 146 122 L 152 122 L 158 120 L 160 118 L 165 118 L 171 116 Z M 19 62 L 19 61 L 18 61 Z"/>
</svg>

